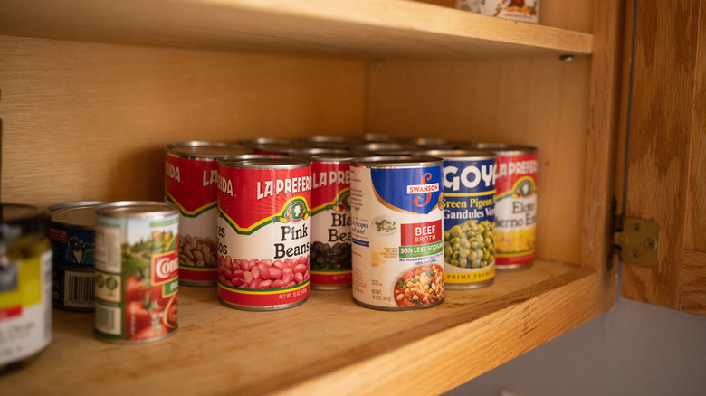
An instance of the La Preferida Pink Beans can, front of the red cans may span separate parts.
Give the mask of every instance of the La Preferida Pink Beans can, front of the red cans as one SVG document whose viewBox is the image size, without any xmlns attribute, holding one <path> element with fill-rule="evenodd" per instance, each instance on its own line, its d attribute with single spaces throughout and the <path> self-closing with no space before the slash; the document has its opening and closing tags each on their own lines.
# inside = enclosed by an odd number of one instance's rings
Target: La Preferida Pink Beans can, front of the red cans
<svg viewBox="0 0 706 396">
<path fill-rule="evenodd" d="M 311 162 L 253 155 L 218 161 L 218 298 L 245 310 L 309 297 Z"/>
</svg>

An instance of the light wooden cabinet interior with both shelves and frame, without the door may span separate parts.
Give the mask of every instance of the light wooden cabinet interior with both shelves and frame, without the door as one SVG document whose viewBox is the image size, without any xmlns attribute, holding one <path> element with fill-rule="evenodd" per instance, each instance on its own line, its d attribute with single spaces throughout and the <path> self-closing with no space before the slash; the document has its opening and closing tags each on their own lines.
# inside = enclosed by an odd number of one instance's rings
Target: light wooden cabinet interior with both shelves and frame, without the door
<svg viewBox="0 0 706 396">
<path fill-rule="evenodd" d="M 401 0 L 3 2 L 3 202 L 161 200 L 164 146 L 182 140 L 509 141 L 539 147 L 539 259 L 415 312 L 362 308 L 349 291 L 242 312 L 184 287 L 179 332 L 152 344 L 102 343 L 90 314 L 55 310 L 50 347 L 0 385 L 438 393 L 605 313 L 619 3 L 543 0 L 535 25 Z"/>
</svg>

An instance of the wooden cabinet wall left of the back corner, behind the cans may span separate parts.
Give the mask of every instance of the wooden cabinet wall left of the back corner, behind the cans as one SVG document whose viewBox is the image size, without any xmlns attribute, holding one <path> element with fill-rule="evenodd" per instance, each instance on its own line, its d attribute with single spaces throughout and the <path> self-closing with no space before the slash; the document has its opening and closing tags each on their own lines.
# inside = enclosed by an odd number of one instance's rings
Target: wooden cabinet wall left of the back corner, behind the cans
<svg viewBox="0 0 706 396">
<path fill-rule="evenodd" d="M 361 133 L 362 61 L 0 38 L 3 202 L 162 200 L 164 146 Z"/>
</svg>

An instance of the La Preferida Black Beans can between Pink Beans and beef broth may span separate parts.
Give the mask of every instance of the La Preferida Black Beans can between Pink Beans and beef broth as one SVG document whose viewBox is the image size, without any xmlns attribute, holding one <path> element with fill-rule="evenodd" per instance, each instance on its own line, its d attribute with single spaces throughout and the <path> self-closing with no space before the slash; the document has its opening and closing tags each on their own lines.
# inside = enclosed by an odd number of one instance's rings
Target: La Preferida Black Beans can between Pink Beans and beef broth
<svg viewBox="0 0 706 396">
<path fill-rule="evenodd" d="M 319 153 L 311 161 L 311 288 L 349 288 L 351 154 Z"/>
</svg>

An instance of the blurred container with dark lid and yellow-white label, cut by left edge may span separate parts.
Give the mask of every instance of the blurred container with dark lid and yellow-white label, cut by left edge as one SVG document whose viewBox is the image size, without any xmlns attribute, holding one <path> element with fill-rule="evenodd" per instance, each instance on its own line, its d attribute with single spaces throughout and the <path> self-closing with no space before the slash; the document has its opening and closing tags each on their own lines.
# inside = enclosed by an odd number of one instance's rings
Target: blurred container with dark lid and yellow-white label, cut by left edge
<svg viewBox="0 0 706 396">
<path fill-rule="evenodd" d="M 52 249 L 46 212 L 0 203 L 0 373 L 52 341 Z"/>
</svg>

